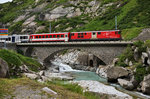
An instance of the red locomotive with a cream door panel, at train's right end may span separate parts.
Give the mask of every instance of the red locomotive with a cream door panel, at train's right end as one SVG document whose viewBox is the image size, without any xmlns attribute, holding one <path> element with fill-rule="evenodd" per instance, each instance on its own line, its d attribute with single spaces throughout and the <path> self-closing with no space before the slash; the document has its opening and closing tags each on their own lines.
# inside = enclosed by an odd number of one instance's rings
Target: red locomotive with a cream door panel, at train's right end
<svg viewBox="0 0 150 99">
<path fill-rule="evenodd" d="M 81 40 L 121 40 L 120 30 L 71 32 L 71 41 Z"/>
</svg>

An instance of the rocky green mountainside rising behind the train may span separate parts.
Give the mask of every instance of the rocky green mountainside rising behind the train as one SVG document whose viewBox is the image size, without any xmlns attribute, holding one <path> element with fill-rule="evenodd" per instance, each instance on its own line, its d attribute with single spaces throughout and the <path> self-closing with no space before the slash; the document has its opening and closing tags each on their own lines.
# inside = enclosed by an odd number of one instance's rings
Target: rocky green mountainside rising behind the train
<svg viewBox="0 0 150 99">
<path fill-rule="evenodd" d="M 149 0 L 13 0 L 0 5 L 0 22 L 10 33 L 118 29 L 125 40 L 150 26 Z"/>
</svg>

